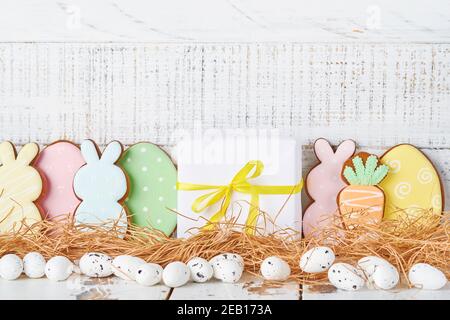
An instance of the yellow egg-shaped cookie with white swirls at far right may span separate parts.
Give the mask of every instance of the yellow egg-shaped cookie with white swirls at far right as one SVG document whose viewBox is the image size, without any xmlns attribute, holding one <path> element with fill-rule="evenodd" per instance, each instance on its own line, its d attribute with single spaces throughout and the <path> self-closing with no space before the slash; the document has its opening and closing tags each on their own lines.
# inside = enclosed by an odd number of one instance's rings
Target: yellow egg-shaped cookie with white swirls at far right
<svg viewBox="0 0 450 320">
<path fill-rule="evenodd" d="M 386 195 L 384 218 L 398 219 L 405 214 L 419 217 L 432 211 L 442 214 L 443 188 L 431 161 L 416 147 L 400 144 L 388 150 L 381 163 L 389 174 L 380 187 Z"/>
</svg>

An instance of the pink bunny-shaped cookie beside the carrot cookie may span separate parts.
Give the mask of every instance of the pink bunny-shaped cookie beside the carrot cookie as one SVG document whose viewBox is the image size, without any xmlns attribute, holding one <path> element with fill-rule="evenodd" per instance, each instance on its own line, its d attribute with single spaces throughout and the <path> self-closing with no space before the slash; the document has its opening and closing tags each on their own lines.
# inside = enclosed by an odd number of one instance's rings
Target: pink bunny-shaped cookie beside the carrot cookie
<svg viewBox="0 0 450 320">
<path fill-rule="evenodd" d="M 306 177 L 306 192 L 314 202 L 303 216 L 303 233 L 312 235 L 313 230 L 329 225 L 333 215 L 338 214 L 337 196 L 346 186 L 341 177 L 342 166 L 355 153 L 356 145 L 345 140 L 333 152 L 330 143 L 318 139 L 314 143 L 314 152 L 320 163 L 311 169 Z"/>
</svg>

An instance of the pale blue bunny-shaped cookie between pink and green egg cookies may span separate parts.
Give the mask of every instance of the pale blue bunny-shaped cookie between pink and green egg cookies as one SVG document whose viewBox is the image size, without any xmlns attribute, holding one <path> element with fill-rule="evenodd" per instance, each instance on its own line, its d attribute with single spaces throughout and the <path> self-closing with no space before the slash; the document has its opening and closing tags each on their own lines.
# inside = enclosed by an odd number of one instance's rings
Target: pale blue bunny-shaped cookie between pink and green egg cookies
<svg viewBox="0 0 450 320">
<path fill-rule="evenodd" d="M 76 223 L 114 223 L 122 233 L 126 232 L 127 214 L 119 202 L 127 194 L 128 183 L 125 173 L 116 165 L 122 150 L 118 141 L 112 141 L 100 157 L 93 141 L 81 144 L 86 165 L 78 170 L 73 181 L 75 194 L 82 200 L 75 211 Z"/>
</svg>

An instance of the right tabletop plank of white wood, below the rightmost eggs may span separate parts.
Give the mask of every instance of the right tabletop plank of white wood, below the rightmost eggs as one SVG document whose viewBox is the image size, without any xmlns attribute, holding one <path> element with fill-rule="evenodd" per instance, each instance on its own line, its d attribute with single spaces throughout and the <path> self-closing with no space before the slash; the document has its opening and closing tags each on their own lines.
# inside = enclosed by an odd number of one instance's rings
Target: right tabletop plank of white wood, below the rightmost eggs
<svg viewBox="0 0 450 320">
<path fill-rule="evenodd" d="M 327 288 L 328 290 L 328 288 Z M 327 291 L 325 290 L 325 291 Z M 392 290 L 361 289 L 354 292 L 329 289 L 320 292 L 306 286 L 303 300 L 450 300 L 450 284 L 440 290 L 420 290 L 399 287 Z"/>
</svg>

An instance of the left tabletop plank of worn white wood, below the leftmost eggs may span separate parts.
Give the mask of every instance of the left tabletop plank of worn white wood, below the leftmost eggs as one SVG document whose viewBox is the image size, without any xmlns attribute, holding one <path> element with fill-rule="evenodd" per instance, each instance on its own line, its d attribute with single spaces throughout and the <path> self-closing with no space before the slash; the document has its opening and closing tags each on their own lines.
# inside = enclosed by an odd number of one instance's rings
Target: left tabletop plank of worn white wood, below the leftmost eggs
<svg viewBox="0 0 450 320">
<path fill-rule="evenodd" d="M 117 277 L 90 279 L 73 274 L 60 282 L 25 276 L 15 281 L 0 279 L 0 300 L 164 300 L 169 293 L 164 285 L 144 287 Z"/>
</svg>

